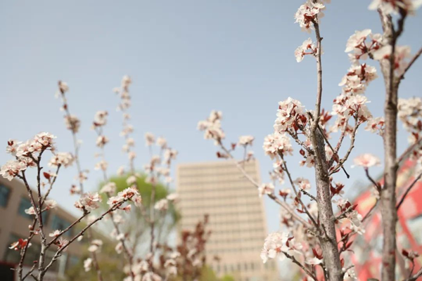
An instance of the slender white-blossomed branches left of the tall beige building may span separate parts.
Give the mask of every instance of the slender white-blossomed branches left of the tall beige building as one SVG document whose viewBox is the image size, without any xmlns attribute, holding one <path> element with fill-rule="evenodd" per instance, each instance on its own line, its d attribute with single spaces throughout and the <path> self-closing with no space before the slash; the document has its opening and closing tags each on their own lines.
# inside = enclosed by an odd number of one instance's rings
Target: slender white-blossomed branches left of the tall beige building
<svg viewBox="0 0 422 281">
<path fill-rule="evenodd" d="M 29 234 L 26 239 L 20 239 L 14 242 L 10 249 L 20 251 L 20 263 L 16 270 L 18 271 L 18 280 L 25 280 L 27 277 L 32 277 L 34 280 L 44 280 L 46 272 L 53 266 L 53 263 L 60 258 L 63 251 L 75 241 L 82 239 L 87 240 L 89 247 L 88 251 L 90 257 L 84 261 L 84 269 L 86 271 L 95 270 L 98 281 L 108 280 L 101 272 L 100 263 L 98 263 L 98 254 L 101 254 L 101 247 L 103 241 L 94 239 L 91 227 L 103 218 L 108 219 L 113 226 L 113 231 L 110 236 L 115 239 L 115 251 L 117 254 L 124 256 L 125 264 L 122 271 L 127 277 L 125 280 L 170 280 L 170 278 L 177 275 L 178 271 L 184 276 L 198 276 L 200 275 L 200 268 L 205 263 L 205 243 L 210 233 L 205 230 L 207 220 L 204 223 L 198 223 L 196 231 L 190 233 L 185 232 L 186 235 L 181 244 L 172 246 L 167 242 L 160 240 L 162 233 L 162 220 L 166 220 L 169 209 L 174 209 L 174 204 L 178 200 L 176 193 L 169 193 L 171 164 L 177 157 L 177 150 L 170 148 L 167 145 L 165 138 L 156 138 L 152 133 L 145 134 L 146 146 L 149 148 L 151 160 L 148 164 L 143 166 L 143 174 L 136 171 L 134 159 L 136 153 L 134 152 L 135 141 L 131 137 L 134 131 L 133 126 L 129 124 L 129 107 L 131 105 L 131 97 L 129 95 L 129 85 L 132 80 L 125 76 L 122 79 L 120 87 L 113 89 L 117 96 L 120 97 L 120 103 L 117 107 L 123 115 L 123 129 L 120 133 L 124 137 L 123 152 L 127 153 L 129 159 L 127 171 L 124 166 L 117 170 L 117 176 L 125 176 L 127 178 L 127 188 L 117 192 L 115 182 L 111 181 L 108 174 L 108 162 L 106 160 L 106 145 L 109 141 L 105 135 L 108 112 L 102 110 L 96 112 L 94 122 L 92 122 L 92 129 L 96 132 L 96 146 L 98 152 L 96 157 L 99 161 L 96 163 L 94 169 L 101 171 L 103 185 L 99 192 L 86 192 L 84 190 L 84 181 L 88 178 L 88 170 L 82 167 L 80 161 L 80 141 L 77 133 L 80 120 L 72 115 L 70 112 L 70 105 L 68 103 L 67 93 L 69 91 L 68 85 L 63 82 L 58 82 L 57 96 L 61 98 L 64 112 L 65 125 L 72 134 L 74 151 L 58 152 L 56 150 L 55 139 L 51 133 L 39 133 L 30 140 L 22 143 L 15 140 L 9 140 L 6 147 L 6 152 L 11 154 L 14 159 L 8 161 L 1 166 L 0 174 L 4 178 L 11 181 L 13 178 L 20 178 L 24 183 L 30 197 L 32 207 L 25 210 L 27 214 L 33 216 L 33 222 L 29 226 Z M 158 146 L 159 153 L 153 153 L 153 146 Z M 46 153 L 51 153 L 51 160 L 48 165 L 53 171 L 46 171 L 44 169 L 44 157 Z M 70 224 L 65 229 L 53 230 L 52 233 L 46 233 L 46 228 L 43 223 L 43 214 L 55 208 L 57 203 L 49 199 L 49 194 L 53 188 L 60 169 L 68 168 L 75 164 L 77 169 L 77 184 L 72 185 L 70 194 L 79 196 L 75 202 L 75 207 L 82 211 L 82 214 L 76 221 Z M 36 190 L 30 188 L 27 181 L 27 170 L 36 170 Z M 146 175 L 144 178 L 143 175 Z M 44 178 L 43 178 L 44 177 Z M 151 198 L 148 199 L 149 209 L 142 204 L 138 182 L 143 179 L 151 186 Z M 157 199 L 157 187 L 161 182 L 167 183 L 165 187 L 167 196 L 165 198 Z M 101 209 L 101 202 L 107 201 L 106 209 Z M 134 206 L 134 207 L 132 207 Z M 171 208 L 170 208 L 171 207 Z M 123 228 L 122 223 L 125 218 L 130 218 L 130 213 L 133 213 L 132 208 L 136 209 L 143 216 L 143 220 L 148 225 L 150 231 L 148 235 L 148 251 L 141 255 L 136 247 L 136 233 L 139 229 Z M 77 231 L 69 240 L 63 238 L 65 233 L 68 233 L 72 228 L 80 228 L 82 221 L 84 221 L 82 230 Z M 31 245 L 31 241 L 40 240 L 41 249 L 39 251 L 39 259 L 34 261 L 32 268 L 24 275 L 23 261 L 27 254 L 27 249 Z M 51 259 L 46 258 L 46 251 L 54 249 L 55 253 Z"/>
</svg>

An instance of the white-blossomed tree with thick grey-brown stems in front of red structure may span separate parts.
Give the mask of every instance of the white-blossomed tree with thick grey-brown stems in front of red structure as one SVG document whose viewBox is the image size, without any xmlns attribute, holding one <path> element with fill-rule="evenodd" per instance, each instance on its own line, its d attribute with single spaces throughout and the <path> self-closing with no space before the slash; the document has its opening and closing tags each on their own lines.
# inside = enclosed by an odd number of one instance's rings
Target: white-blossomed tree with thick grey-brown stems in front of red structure
<svg viewBox="0 0 422 281">
<path fill-rule="evenodd" d="M 322 71 L 322 32 L 321 18 L 329 1 L 309 0 L 295 13 L 295 22 L 305 32 L 313 32 L 315 41 L 305 40 L 296 50 L 295 58 L 301 62 L 305 56 L 316 60 L 316 97 L 313 110 L 306 110 L 299 100 L 288 98 L 279 103 L 274 132 L 264 139 L 264 152 L 274 162 L 271 171 L 272 183 L 259 184 L 243 169 L 243 162 L 252 157 L 247 149 L 252 145 L 252 136 L 241 136 L 238 143 L 224 144 L 222 112 L 213 111 L 205 121 L 198 123 L 204 131 L 205 139 L 212 139 L 219 148 L 217 157 L 234 160 L 236 148 L 242 147 L 243 160 L 234 161 L 238 169 L 258 189 L 259 195 L 267 195 L 281 206 L 281 221 L 286 232 L 271 233 L 264 241 L 261 257 L 264 263 L 276 256 L 288 258 L 300 267 L 305 280 L 339 281 L 355 277 L 354 265 L 349 251 L 352 250 L 353 237 L 364 233 L 364 221 L 371 215 L 359 214 L 344 193 L 347 188 L 338 180 L 338 173 L 345 173 L 345 163 L 354 150 L 354 141 L 359 127 L 377 133 L 384 141 L 383 181 L 371 178 L 369 168 L 381 164 L 378 157 L 365 153 L 354 159 L 355 166 L 362 166 L 373 184 L 377 203 L 381 202 L 383 218 L 383 262 L 381 280 L 395 280 L 396 259 L 403 259 L 396 253 L 397 209 L 408 191 L 421 178 L 421 169 L 416 171 L 414 182 L 409 186 L 401 200 L 397 200 L 397 169 L 403 159 L 410 157 L 421 166 L 422 145 L 422 98 L 399 99 L 399 84 L 411 65 L 421 55 L 422 48 L 411 55 L 408 46 L 398 46 L 397 39 L 404 30 L 408 15 L 413 15 L 421 1 L 411 0 L 374 0 L 369 8 L 376 10 L 381 18 L 383 34 L 371 30 L 357 31 L 347 40 L 345 52 L 348 53 L 351 67 L 340 81 L 341 93 L 333 100 L 332 111 L 322 109 L 323 71 Z M 385 82 L 384 117 L 373 117 L 369 111 L 366 90 L 371 81 L 378 77 L 376 67 L 366 63 L 372 60 L 379 63 Z M 331 119 L 335 121 L 330 125 Z M 410 146 L 402 155 L 397 156 L 397 118 L 409 131 Z M 338 133 L 336 140 L 333 133 Z M 350 141 L 346 139 L 350 138 Z M 315 189 L 306 178 L 294 178 L 288 165 L 288 156 L 293 155 L 293 144 L 303 159 L 300 166 L 314 169 Z M 347 144 L 348 143 L 348 144 Z M 345 148 L 345 152 L 340 149 Z M 284 181 L 290 185 L 275 192 L 276 182 Z M 316 195 L 314 192 L 316 191 Z M 333 208 L 333 204 L 338 209 Z M 403 251 L 405 259 L 414 259 L 409 252 Z M 411 258 L 409 258 L 411 256 Z M 422 276 L 422 269 L 414 268 L 404 275 L 408 280 Z"/>
</svg>

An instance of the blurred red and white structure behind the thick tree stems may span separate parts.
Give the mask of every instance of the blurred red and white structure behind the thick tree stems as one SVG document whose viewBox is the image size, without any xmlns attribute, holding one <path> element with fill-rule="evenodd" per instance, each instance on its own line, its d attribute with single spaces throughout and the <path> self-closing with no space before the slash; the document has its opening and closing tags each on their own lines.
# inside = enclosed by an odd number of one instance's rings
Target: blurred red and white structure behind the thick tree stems
<svg viewBox="0 0 422 281">
<path fill-rule="evenodd" d="M 407 190 L 414 181 L 414 162 L 407 161 L 402 164 L 397 178 L 397 198 Z M 382 183 L 382 179 L 381 179 Z M 359 195 L 354 201 L 357 204 L 357 211 L 364 216 L 373 205 L 376 198 L 371 191 L 366 191 Z M 422 254 L 422 181 L 418 181 L 405 198 L 398 213 L 397 223 L 397 278 L 402 273 L 408 274 L 404 259 L 402 259 L 402 249 L 417 251 Z M 381 226 L 381 211 L 379 206 L 373 210 L 373 214 L 365 221 L 364 235 L 355 238 L 352 249 L 352 262 L 355 265 L 357 280 L 367 280 L 380 276 L 381 271 L 381 250 L 383 244 L 383 230 Z M 422 256 L 415 260 L 414 273 L 422 266 Z"/>
</svg>

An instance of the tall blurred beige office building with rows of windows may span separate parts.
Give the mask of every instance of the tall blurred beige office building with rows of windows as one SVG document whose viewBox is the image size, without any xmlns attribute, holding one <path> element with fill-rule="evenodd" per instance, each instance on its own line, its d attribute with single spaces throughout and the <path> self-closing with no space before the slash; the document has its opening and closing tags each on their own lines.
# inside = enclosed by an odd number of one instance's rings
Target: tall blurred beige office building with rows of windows
<svg viewBox="0 0 422 281">
<path fill-rule="evenodd" d="M 245 170 L 260 182 L 256 160 L 246 163 Z M 279 280 L 276 263 L 260 259 L 267 237 L 263 201 L 234 162 L 179 164 L 177 192 L 181 229 L 192 229 L 204 214 L 210 215 L 206 254 L 217 275 L 229 274 L 236 281 Z"/>
</svg>

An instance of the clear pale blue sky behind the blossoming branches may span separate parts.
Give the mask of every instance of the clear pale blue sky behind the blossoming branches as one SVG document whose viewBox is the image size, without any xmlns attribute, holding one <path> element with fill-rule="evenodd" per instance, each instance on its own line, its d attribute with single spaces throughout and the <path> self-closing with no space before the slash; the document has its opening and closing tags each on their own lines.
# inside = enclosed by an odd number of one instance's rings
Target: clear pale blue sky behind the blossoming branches
<svg viewBox="0 0 422 281">
<path fill-rule="evenodd" d="M 381 32 L 370 1 L 338 1 L 328 4 L 321 22 L 324 37 L 324 107 L 340 93 L 338 83 L 350 63 L 344 53 L 354 30 Z M 277 103 L 288 96 L 314 104 L 315 63 L 305 58 L 296 63 L 293 52 L 309 37 L 294 23 L 302 1 L 1 1 L 0 4 L 0 143 L 8 138 L 25 141 L 35 133 L 56 136 L 58 150 L 71 151 L 70 132 L 63 125 L 60 100 L 54 98 L 58 79 L 67 81 L 70 110 L 82 119 L 82 165 L 91 169 L 87 186 L 100 180 L 94 171 L 95 133 L 90 130 L 97 110 L 110 112 L 106 153 L 110 171 L 127 159 L 121 152 L 120 112 L 111 89 L 124 74 L 132 85 L 132 124 L 138 140 L 136 164 L 147 161 L 143 133 L 165 136 L 179 150 L 178 162 L 215 160 L 215 147 L 196 131 L 196 123 L 210 110 L 224 112 L 229 141 L 255 136 L 255 154 L 264 181 L 271 161 L 264 156 L 262 141 L 272 132 Z M 419 11 L 421 13 L 421 11 Z M 399 41 L 412 51 L 422 46 L 420 15 L 409 18 Z M 313 34 L 311 34 L 313 37 Z M 371 65 L 376 63 L 369 61 Z M 422 62 L 401 86 L 401 96 L 421 96 Z M 366 93 L 373 115 L 382 113 L 383 82 L 374 81 Z M 402 132 L 402 131 L 401 131 Z M 399 150 L 407 145 L 400 134 Z M 356 151 L 382 157 L 379 136 L 359 131 Z M 354 157 L 356 152 L 352 154 Z M 4 164 L 10 155 L 0 153 Z M 307 176 L 312 169 L 299 168 L 298 157 L 288 159 L 293 176 Z M 365 181 L 362 171 L 348 168 L 345 181 Z M 380 171 L 379 169 L 377 171 Z M 52 197 L 67 209 L 77 199 L 69 196 L 75 168 L 58 178 Z M 376 171 L 374 171 L 376 174 Z M 269 230 L 279 228 L 279 211 L 267 202 Z"/>
</svg>

